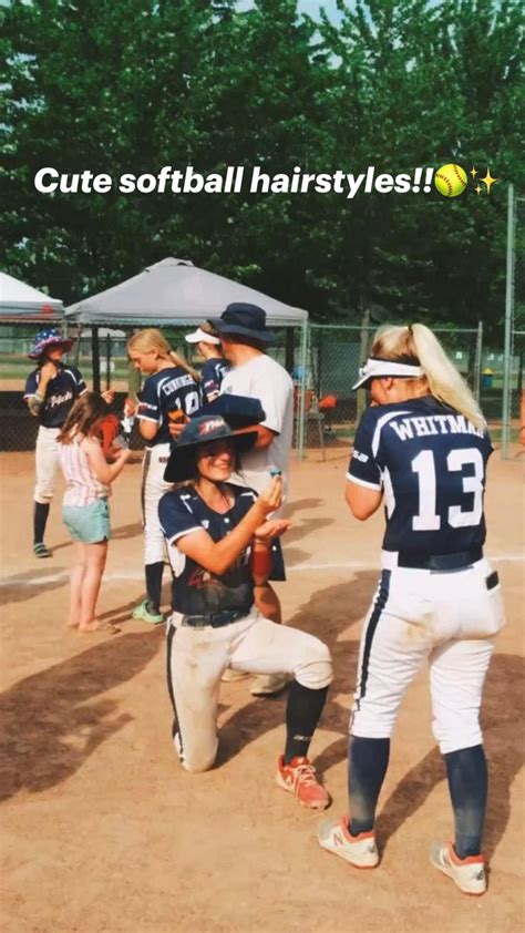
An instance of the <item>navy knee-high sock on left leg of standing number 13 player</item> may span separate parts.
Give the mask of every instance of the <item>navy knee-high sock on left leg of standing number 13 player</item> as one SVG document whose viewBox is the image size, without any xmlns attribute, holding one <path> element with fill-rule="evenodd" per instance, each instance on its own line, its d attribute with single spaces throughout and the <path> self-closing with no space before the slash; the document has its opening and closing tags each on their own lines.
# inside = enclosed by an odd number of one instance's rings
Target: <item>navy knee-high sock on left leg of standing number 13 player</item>
<svg viewBox="0 0 525 933">
<path fill-rule="evenodd" d="M 352 835 L 370 832 L 375 820 L 379 793 L 389 767 L 390 739 L 350 736 L 348 761 L 349 830 Z"/>
</svg>

